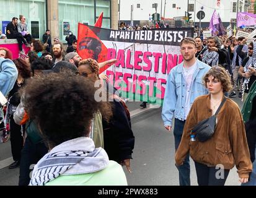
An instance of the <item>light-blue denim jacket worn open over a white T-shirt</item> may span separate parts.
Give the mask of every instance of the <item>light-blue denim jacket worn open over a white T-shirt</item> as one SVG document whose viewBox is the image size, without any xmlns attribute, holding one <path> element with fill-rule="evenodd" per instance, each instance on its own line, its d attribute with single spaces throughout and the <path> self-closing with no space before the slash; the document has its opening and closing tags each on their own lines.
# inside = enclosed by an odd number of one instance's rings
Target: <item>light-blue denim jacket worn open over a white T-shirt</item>
<svg viewBox="0 0 256 198">
<path fill-rule="evenodd" d="M 203 76 L 211 67 L 196 60 L 196 71 L 193 74 L 192 88 L 190 95 L 190 107 L 196 97 L 208 94 L 203 85 Z M 172 119 L 185 120 L 186 81 L 183 75 L 183 62 L 174 67 L 167 77 L 164 104 L 162 106 L 162 119 L 164 126 L 172 126 Z"/>
</svg>

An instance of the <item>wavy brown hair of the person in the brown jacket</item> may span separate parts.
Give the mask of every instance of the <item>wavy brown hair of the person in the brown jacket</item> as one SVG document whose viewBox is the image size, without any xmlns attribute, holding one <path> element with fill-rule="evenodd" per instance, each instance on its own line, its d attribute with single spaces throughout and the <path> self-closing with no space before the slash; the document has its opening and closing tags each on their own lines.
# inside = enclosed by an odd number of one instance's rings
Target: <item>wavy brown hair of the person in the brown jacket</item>
<svg viewBox="0 0 256 198">
<path fill-rule="evenodd" d="M 227 73 L 226 69 L 224 69 L 223 67 L 213 66 L 205 74 L 205 77 L 203 77 L 203 84 L 205 84 L 206 88 L 207 88 L 206 83 L 208 81 L 208 77 L 210 76 L 213 76 L 214 79 L 218 79 L 219 82 L 221 82 L 221 85 L 223 86 L 223 93 L 229 92 L 232 89 L 230 76 Z"/>
</svg>

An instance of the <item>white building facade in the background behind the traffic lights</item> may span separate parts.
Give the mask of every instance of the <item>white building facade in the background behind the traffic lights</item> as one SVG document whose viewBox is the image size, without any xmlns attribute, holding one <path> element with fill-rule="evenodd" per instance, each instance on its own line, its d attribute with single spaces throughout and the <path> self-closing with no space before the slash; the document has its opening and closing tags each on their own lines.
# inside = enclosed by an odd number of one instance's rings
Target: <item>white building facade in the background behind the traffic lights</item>
<svg viewBox="0 0 256 198">
<path fill-rule="evenodd" d="M 179 20 L 189 11 L 191 22 L 199 24 L 196 17 L 198 11 L 205 12 L 205 18 L 201 20 L 202 25 L 209 25 L 214 9 L 219 13 L 224 25 L 236 21 L 236 12 L 244 12 L 249 4 L 246 0 L 119 0 L 120 20 L 138 24 L 139 21 L 149 21 L 150 16 L 159 13 L 162 20 Z M 165 4 L 166 2 L 166 4 Z M 238 2 L 238 6 L 237 6 Z M 157 9 L 154 4 L 157 4 Z M 131 9 L 131 6 L 133 9 Z"/>
</svg>

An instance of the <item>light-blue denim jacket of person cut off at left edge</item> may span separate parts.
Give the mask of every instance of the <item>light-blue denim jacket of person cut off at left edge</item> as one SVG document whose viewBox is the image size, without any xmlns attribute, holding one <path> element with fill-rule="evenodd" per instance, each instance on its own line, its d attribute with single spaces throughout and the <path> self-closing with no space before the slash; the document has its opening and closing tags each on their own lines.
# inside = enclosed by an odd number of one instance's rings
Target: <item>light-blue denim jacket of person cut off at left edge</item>
<svg viewBox="0 0 256 198">
<path fill-rule="evenodd" d="M 0 91 L 6 97 L 18 77 L 17 68 L 10 59 L 0 58 Z"/>
</svg>

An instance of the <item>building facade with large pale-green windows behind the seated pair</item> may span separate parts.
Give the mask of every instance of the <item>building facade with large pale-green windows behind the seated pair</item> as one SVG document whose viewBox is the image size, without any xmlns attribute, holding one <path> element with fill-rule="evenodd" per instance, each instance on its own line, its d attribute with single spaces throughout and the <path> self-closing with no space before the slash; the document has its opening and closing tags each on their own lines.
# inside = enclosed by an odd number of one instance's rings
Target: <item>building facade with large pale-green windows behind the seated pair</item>
<svg viewBox="0 0 256 198">
<path fill-rule="evenodd" d="M 46 29 L 64 42 L 69 30 L 77 36 L 77 24 L 94 25 L 104 12 L 102 27 L 118 27 L 118 0 L 0 0 L 0 29 L 5 31 L 12 17 L 26 17 L 33 38 L 42 40 Z"/>
</svg>

